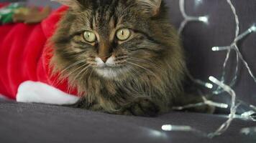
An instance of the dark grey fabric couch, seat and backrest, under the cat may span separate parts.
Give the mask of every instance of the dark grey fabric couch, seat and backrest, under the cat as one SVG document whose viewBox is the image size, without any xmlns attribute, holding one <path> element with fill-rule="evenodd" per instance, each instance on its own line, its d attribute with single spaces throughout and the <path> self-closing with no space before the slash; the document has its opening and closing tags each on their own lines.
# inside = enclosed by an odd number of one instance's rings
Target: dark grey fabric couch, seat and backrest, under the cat
<svg viewBox="0 0 256 143">
<path fill-rule="evenodd" d="M 196 1 L 196 0 L 195 0 Z M 207 80 L 209 75 L 219 78 L 225 51 L 213 52 L 211 46 L 227 46 L 234 39 L 234 16 L 224 0 L 204 0 L 195 5 L 186 1 L 186 11 L 193 16 L 209 15 L 209 24 L 189 23 L 183 31 L 188 66 L 194 77 Z M 256 1 L 235 1 L 234 6 L 240 19 L 241 31 L 256 24 Z M 58 7 L 50 1 L 33 0 L 31 4 L 45 3 Z M 167 1 L 170 6 L 171 22 L 178 27 L 183 20 L 178 9 L 178 0 Z M 239 42 L 239 49 L 256 73 L 256 34 L 250 34 Z M 232 77 L 235 56 L 231 57 L 228 75 Z M 256 84 L 246 69 L 241 66 L 239 81 L 234 89 L 238 99 L 256 104 Z M 216 101 L 229 102 L 226 94 Z M 223 135 L 207 139 L 191 132 L 163 132 L 163 124 L 183 124 L 205 132 L 214 131 L 227 116 L 219 114 L 198 114 L 170 112 L 156 118 L 126 117 L 83 109 L 50 106 L 45 104 L 21 104 L 0 99 L 0 142 L 256 142 L 255 136 L 239 134 L 242 127 L 256 126 L 256 122 L 235 119 Z M 244 112 L 240 107 L 238 112 Z"/>
</svg>

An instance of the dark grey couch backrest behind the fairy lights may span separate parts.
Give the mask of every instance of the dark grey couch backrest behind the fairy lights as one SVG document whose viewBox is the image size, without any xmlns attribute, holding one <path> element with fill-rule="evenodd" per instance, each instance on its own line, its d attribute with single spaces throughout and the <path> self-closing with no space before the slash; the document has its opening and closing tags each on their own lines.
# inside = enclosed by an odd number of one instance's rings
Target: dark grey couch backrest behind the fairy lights
<svg viewBox="0 0 256 143">
<path fill-rule="evenodd" d="M 209 24 L 200 22 L 189 23 L 183 31 L 183 45 L 186 48 L 188 67 L 194 77 L 208 81 L 209 76 L 220 79 L 222 65 L 227 51 L 211 51 L 212 46 L 229 46 L 235 36 L 234 15 L 224 0 L 203 0 L 196 6 L 196 0 L 186 1 L 186 11 L 191 16 L 209 16 Z M 176 27 L 183 20 L 178 0 L 167 1 L 170 6 L 170 19 Z M 256 24 L 256 1 L 245 0 L 232 3 L 237 10 L 240 21 L 240 34 Z M 256 32 L 239 41 L 238 46 L 244 59 L 247 60 L 252 72 L 256 75 Z M 232 56 L 228 63 L 227 79 L 230 81 L 234 75 L 236 56 Z M 244 102 L 256 104 L 256 84 L 250 77 L 245 66 L 240 63 L 239 79 L 234 87 L 237 98 Z M 217 97 L 228 101 L 225 96 Z"/>
</svg>

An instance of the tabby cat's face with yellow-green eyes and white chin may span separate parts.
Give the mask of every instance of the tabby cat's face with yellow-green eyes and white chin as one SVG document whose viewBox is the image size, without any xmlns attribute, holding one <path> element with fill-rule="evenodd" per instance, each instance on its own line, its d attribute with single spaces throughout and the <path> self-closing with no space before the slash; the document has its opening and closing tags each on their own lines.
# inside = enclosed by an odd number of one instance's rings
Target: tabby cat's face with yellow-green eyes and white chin
<svg viewBox="0 0 256 143">
<path fill-rule="evenodd" d="M 54 58 L 60 69 L 72 66 L 68 74 L 139 75 L 156 67 L 167 50 L 157 24 L 163 21 L 160 0 L 58 1 L 70 10 L 53 37 Z"/>
</svg>

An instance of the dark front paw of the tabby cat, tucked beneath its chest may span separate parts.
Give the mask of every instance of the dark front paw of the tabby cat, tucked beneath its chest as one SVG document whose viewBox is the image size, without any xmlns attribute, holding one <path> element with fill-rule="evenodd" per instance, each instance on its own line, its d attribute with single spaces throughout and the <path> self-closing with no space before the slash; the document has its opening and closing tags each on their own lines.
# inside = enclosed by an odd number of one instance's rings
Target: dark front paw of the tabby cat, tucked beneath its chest
<svg viewBox="0 0 256 143">
<path fill-rule="evenodd" d="M 117 114 L 142 116 L 142 117 L 156 117 L 160 112 L 160 108 L 152 102 L 152 100 L 140 97 L 134 99 L 133 102 L 122 107 Z"/>
</svg>

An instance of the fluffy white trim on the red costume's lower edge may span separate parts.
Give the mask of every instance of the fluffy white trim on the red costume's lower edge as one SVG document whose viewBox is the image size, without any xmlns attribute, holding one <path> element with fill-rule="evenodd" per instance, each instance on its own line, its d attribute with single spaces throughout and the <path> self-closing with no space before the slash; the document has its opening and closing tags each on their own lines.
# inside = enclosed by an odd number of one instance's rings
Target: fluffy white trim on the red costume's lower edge
<svg viewBox="0 0 256 143">
<path fill-rule="evenodd" d="M 41 82 L 23 82 L 19 85 L 17 102 L 68 105 L 78 102 L 75 97 Z"/>
</svg>

